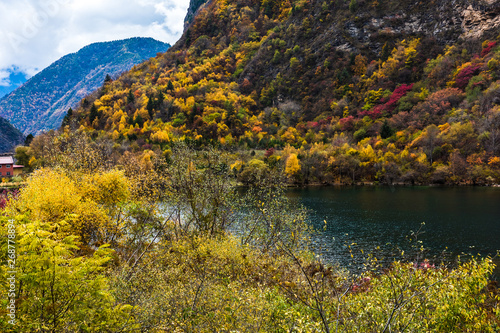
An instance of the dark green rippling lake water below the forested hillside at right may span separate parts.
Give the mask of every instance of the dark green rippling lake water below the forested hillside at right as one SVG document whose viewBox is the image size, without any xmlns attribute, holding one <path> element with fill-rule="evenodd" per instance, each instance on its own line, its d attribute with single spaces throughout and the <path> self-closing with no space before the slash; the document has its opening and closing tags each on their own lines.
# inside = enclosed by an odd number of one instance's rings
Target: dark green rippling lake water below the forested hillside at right
<svg viewBox="0 0 500 333">
<path fill-rule="evenodd" d="M 417 243 L 408 236 L 422 222 L 418 240 L 433 261 L 453 261 L 462 253 L 493 257 L 500 250 L 500 188 L 311 187 L 288 195 L 310 210 L 310 222 L 320 230 L 314 249 L 330 263 L 359 266 L 361 249 L 386 262 L 401 250 L 416 256 Z M 346 246 L 352 243 L 354 260 Z M 494 274 L 498 280 L 499 267 Z"/>
</svg>

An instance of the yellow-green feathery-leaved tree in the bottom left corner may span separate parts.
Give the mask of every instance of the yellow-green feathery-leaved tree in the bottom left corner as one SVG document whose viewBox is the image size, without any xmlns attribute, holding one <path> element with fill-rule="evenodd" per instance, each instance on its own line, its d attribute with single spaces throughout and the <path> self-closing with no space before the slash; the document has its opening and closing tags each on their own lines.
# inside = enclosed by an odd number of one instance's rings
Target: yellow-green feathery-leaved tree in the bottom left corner
<svg viewBox="0 0 500 333">
<path fill-rule="evenodd" d="M 7 217 L 0 217 L 7 235 Z M 76 236 L 60 238 L 61 223 L 32 222 L 16 217 L 16 307 L 17 323 L 5 316 L 0 330 L 8 332 L 104 332 L 124 327 L 132 308 L 115 305 L 104 271 L 112 251 L 103 246 L 91 256 L 80 257 Z M 8 242 L 2 237 L 2 263 L 7 262 Z M 2 294 L 9 269 L 1 267 Z M 7 299 L 3 298 L 2 308 Z"/>
</svg>

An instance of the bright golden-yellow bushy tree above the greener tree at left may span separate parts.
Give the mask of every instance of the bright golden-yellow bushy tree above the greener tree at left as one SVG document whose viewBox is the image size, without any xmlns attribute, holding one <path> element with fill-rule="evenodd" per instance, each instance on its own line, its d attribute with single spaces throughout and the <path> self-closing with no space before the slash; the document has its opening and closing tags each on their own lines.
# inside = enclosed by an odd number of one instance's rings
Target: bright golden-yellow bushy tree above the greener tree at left
<svg viewBox="0 0 500 333">
<path fill-rule="evenodd" d="M 44 223 L 61 223 L 62 235 L 77 235 L 84 245 L 102 245 L 118 235 L 119 222 L 113 217 L 119 215 L 119 204 L 129 195 L 123 171 L 84 174 L 46 168 L 28 178 L 8 212 Z"/>
</svg>

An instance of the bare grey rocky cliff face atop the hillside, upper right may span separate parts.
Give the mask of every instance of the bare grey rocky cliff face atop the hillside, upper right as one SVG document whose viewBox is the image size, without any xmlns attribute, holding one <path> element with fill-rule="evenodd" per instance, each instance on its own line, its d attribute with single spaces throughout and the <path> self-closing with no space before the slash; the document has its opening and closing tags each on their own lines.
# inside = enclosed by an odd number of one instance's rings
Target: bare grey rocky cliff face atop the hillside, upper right
<svg viewBox="0 0 500 333">
<path fill-rule="evenodd" d="M 337 16 L 326 29 L 317 29 L 315 39 L 333 41 L 334 47 L 342 51 L 370 49 L 378 53 L 383 46 L 381 41 L 388 39 L 425 36 L 436 38 L 442 44 L 453 44 L 459 39 L 496 37 L 495 31 L 500 27 L 500 1 L 497 0 L 360 0 L 351 12 L 354 15 Z M 321 17 L 319 7 L 315 8 L 313 17 Z M 300 24 L 300 21 L 294 23 Z"/>
</svg>

